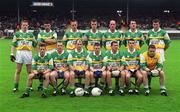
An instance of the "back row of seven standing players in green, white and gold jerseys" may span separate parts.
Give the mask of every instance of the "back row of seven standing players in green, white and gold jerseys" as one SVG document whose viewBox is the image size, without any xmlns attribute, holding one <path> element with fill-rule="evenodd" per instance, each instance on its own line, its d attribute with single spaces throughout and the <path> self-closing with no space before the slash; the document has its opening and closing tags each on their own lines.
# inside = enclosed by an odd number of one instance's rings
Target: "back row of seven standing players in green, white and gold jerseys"
<svg viewBox="0 0 180 112">
<path fill-rule="evenodd" d="M 97 21 L 91 21 L 92 29 L 83 36 L 81 32 L 77 29 L 77 21 L 71 21 L 71 29 L 67 31 L 63 37 L 66 42 L 66 48 L 68 51 L 74 50 L 76 46 L 76 41 L 82 39 L 83 42 L 87 42 L 87 50 L 93 51 L 94 44 L 99 43 L 99 45 L 104 46 L 105 49 L 111 50 L 112 42 L 116 41 L 118 46 L 125 44 L 128 48 L 129 40 L 133 38 L 135 40 L 135 49 L 139 50 L 144 43 L 143 34 L 137 30 L 136 21 L 130 21 L 130 29 L 124 34 L 116 30 L 116 22 L 114 20 L 110 21 L 109 30 L 102 34 L 97 30 Z M 49 22 L 44 23 L 45 30 L 38 34 L 38 43 L 45 43 L 47 46 L 47 52 L 52 53 L 54 48 L 56 48 L 57 34 L 51 30 L 51 24 Z M 32 60 L 32 46 L 36 46 L 37 42 L 33 34 L 27 32 L 28 22 L 22 21 L 21 30 L 15 33 L 13 38 L 13 46 L 11 48 L 11 60 L 17 63 L 16 73 L 15 73 L 15 87 L 13 91 L 18 90 L 19 76 L 23 64 L 26 64 L 28 74 L 31 74 L 31 60 Z M 153 21 L 153 29 L 148 32 L 148 37 L 146 39 L 148 45 L 155 45 L 156 51 L 161 54 L 161 61 L 164 59 L 164 50 L 169 47 L 170 39 L 166 31 L 160 28 L 160 21 Z M 16 58 L 14 57 L 14 48 L 16 47 Z M 128 50 L 129 51 L 129 50 Z M 129 73 L 129 72 L 128 72 Z M 164 85 L 162 85 L 163 88 Z M 112 93 L 110 89 L 109 93 Z"/>
</svg>

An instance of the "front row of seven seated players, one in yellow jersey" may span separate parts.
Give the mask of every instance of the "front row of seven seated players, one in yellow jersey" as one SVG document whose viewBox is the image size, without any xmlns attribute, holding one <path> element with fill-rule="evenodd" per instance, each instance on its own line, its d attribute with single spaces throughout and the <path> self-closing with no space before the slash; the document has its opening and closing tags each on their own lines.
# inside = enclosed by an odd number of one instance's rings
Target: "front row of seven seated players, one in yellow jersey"
<svg viewBox="0 0 180 112">
<path fill-rule="evenodd" d="M 76 49 L 67 52 L 63 42 L 57 43 L 57 49 L 52 54 L 46 53 L 44 44 L 39 46 L 39 54 L 32 62 L 33 71 L 28 76 L 27 87 L 22 98 L 28 97 L 32 88 L 32 80 L 37 77 L 42 79 L 42 97 L 47 97 L 47 88 L 51 84 L 54 88 L 53 95 L 58 94 L 57 79 L 64 78 L 61 94 L 66 93 L 67 85 L 70 86 L 70 96 L 75 96 L 75 78 L 85 78 L 84 95 L 90 95 L 90 88 L 95 85 L 95 78 L 101 78 L 100 88 L 108 87 L 109 95 L 114 95 L 112 77 L 119 79 L 118 92 L 125 94 L 127 88 L 129 94 L 139 94 L 141 83 L 144 83 L 144 94 L 149 95 L 148 76 L 160 77 L 161 95 L 167 96 L 164 84 L 163 64 L 160 54 L 156 53 L 154 45 L 148 47 L 148 51 L 140 54 L 135 50 L 135 41 L 129 40 L 128 49 L 119 51 L 116 41 L 111 43 L 112 50 L 103 52 L 99 43 L 94 44 L 94 51 L 88 53 L 81 40 L 77 40 Z M 135 77 L 135 88 L 131 88 L 131 77 Z"/>
</svg>

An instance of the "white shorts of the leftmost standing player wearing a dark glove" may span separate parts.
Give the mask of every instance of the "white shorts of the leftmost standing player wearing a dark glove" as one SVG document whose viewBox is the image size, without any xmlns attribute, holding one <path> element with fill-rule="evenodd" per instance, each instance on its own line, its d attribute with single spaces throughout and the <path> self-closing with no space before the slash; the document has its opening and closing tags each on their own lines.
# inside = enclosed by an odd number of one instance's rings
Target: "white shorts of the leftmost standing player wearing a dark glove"
<svg viewBox="0 0 180 112">
<path fill-rule="evenodd" d="M 16 63 L 31 64 L 32 63 L 32 51 L 17 50 Z"/>
</svg>

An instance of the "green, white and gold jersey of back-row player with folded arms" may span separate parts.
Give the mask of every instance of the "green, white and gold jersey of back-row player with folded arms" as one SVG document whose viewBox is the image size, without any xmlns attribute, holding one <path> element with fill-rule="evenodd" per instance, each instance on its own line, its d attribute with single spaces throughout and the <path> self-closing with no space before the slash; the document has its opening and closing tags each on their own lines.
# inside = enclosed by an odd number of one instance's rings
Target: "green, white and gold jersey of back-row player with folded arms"
<svg viewBox="0 0 180 112">
<path fill-rule="evenodd" d="M 49 32 L 46 32 L 45 30 L 40 31 L 38 34 L 38 42 L 44 42 L 45 39 L 54 39 L 57 40 L 57 33 L 55 31 L 50 30 Z M 47 50 L 52 50 L 56 48 L 56 44 L 48 44 L 46 46 Z"/>
</svg>

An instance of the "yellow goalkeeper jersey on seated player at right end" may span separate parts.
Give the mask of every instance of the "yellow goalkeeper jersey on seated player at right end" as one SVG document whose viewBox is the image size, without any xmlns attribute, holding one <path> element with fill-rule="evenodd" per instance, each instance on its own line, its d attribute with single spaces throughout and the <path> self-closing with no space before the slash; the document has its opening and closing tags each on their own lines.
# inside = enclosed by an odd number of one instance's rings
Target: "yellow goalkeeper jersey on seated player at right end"
<svg viewBox="0 0 180 112">
<path fill-rule="evenodd" d="M 146 68 L 149 68 L 150 70 L 156 69 L 156 68 L 163 68 L 163 62 L 160 58 L 159 53 L 155 53 L 154 57 L 149 57 L 148 52 L 144 52 L 140 56 L 140 65 L 141 69 L 145 70 Z"/>
</svg>

